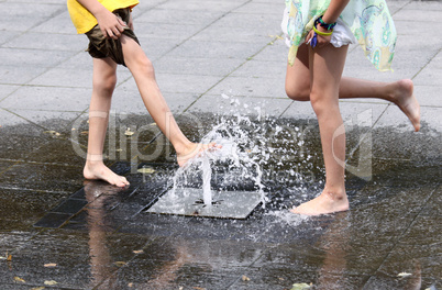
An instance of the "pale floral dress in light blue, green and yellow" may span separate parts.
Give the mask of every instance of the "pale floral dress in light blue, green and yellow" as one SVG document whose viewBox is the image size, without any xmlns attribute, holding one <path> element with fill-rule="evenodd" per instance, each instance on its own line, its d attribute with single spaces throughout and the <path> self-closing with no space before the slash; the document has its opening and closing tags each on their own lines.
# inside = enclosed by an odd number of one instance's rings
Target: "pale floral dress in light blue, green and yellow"
<svg viewBox="0 0 442 290">
<path fill-rule="evenodd" d="M 299 45 L 331 0 L 286 0 L 288 63 L 294 64 Z M 396 27 L 385 0 L 350 0 L 340 20 L 350 27 L 366 57 L 380 71 L 390 70 L 396 46 Z"/>
</svg>

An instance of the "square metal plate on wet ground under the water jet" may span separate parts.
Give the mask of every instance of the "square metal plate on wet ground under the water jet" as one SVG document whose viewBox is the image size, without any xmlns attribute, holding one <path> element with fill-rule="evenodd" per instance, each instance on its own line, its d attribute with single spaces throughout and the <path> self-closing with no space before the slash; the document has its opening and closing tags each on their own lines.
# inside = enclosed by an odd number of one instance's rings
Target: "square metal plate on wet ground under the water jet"
<svg viewBox="0 0 442 290">
<path fill-rule="evenodd" d="M 212 205 L 202 202 L 202 189 L 170 189 L 147 212 L 189 216 L 246 219 L 262 202 L 262 194 L 253 191 L 212 191 Z"/>
</svg>

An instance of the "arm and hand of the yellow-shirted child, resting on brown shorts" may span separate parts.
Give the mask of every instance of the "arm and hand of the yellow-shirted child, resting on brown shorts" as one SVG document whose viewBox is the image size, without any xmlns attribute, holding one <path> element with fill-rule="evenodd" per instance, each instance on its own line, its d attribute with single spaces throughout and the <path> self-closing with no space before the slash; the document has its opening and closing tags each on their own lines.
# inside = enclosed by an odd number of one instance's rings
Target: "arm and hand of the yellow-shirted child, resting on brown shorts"
<svg viewBox="0 0 442 290">
<path fill-rule="evenodd" d="M 118 40 L 126 23 L 106 9 L 97 0 L 77 0 L 97 19 L 98 25 L 106 37 Z"/>
</svg>

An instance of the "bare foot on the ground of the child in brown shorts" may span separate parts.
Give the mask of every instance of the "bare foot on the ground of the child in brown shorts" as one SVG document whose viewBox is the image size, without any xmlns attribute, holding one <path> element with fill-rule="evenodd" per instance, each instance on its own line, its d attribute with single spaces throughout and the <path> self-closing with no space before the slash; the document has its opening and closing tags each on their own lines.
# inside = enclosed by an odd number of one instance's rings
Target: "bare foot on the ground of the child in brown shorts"
<svg viewBox="0 0 442 290">
<path fill-rule="evenodd" d="M 117 187 L 129 186 L 129 181 L 125 179 L 125 177 L 119 176 L 113 172 L 101 160 L 86 160 L 82 175 L 86 179 L 102 179 Z"/>
</svg>

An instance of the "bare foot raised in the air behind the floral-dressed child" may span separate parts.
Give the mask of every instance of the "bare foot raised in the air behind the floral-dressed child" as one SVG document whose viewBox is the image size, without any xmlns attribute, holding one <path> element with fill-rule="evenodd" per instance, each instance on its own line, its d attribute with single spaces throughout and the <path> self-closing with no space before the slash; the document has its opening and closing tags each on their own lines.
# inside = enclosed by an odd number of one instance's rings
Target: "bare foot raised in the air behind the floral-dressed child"
<svg viewBox="0 0 442 290">
<path fill-rule="evenodd" d="M 396 82 L 398 89 L 394 97 L 394 103 L 408 116 L 415 131 L 420 130 L 420 105 L 413 94 L 413 83 L 411 79 L 401 79 Z"/>
</svg>

